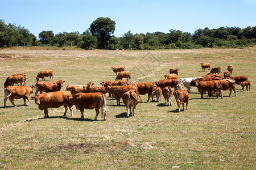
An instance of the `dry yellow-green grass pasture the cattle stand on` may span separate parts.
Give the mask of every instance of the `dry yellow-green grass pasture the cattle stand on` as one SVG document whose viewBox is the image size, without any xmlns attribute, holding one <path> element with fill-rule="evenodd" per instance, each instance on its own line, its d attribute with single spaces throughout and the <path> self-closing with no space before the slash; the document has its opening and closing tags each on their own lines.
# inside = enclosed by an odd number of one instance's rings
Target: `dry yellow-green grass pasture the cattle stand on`
<svg viewBox="0 0 256 170">
<path fill-rule="evenodd" d="M 193 50 L 34 50 L 0 49 L 0 168 L 9 169 L 255 169 L 255 61 L 256 47 L 245 49 Z M 223 99 L 200 99 L 196 87 L 189 94 L 188 111 L 177 112 L 160 103 L 139 103 L 137 115 L 126 118 L 126 108 L 107 98 L 107 120 L 85 120 L 74 107 L 74 117 L 62 117 L 64 108 L 49 109 L 48 119 L 31 100 L 7 100 L 3 109 L 3 83 L 7 76 L 27 73 L 27 85 L 36 83 L 41 70 L 53 70 L 54 80 L 100 86 L 114 80 L 112 66 L 131 71 L 131 82 L 155 82 L 170 68 L 179 78 L 207 74 L 201 62 L 220 66 L 222 73 L 233 65 L 233 76 L 247 75 L 250 91 L 236 86 L 222 91 Z M 223 74 L 222 74 L 223 75 Z M 46 78 L 49 81 L 49 78 Z M 33 96 L 33 94 L 31 94 Z M 106 95 L 108 96 L 108 95 Z M 142 96 L 147 100 L 147 95 Z M 122 100 L 121 100 L 122 101 Z M 151 100 L 150 100 L 151 101 Z"/>
</svg>

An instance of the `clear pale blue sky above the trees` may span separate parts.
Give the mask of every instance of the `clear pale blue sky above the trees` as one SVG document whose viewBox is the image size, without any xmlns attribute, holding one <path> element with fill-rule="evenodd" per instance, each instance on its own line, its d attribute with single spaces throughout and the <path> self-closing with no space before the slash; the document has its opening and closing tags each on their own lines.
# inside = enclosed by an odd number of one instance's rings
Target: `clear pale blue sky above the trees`
<svg viewBox="0 0 256 170">
<path fill-rule="evenodd" d="M 164 32 L 194 33 L 208 27 L 256 26 L 256 0 L 0 0 L 0 19 L 42 31 L 84 32 L 98 17 L 115 21 L 114 35 Z"/>
</svg>

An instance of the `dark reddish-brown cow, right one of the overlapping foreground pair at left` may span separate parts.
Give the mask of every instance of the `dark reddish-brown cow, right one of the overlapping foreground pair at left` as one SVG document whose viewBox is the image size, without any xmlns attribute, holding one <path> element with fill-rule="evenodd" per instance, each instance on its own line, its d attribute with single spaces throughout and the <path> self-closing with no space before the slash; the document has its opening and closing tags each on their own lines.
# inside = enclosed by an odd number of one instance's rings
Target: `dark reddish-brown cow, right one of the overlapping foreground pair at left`
<svg viewBox="0 0 256 170">
<path fill-rule="evenodd" d="M 84 109 L 95 109 L 96 116 L 94 121 L 97 120 L 98 114 L 100 113 L 101 108 L 101 117 L 104 117 L 106 120 L 106 97 L 101 92 L 96 93 L 78 93 L 76 95 L 68 96 L 69 107 L 73 105 L 76 106 L 76 109 L 79 109 L 81 112 L 81 119 L 84 119 Z"/>
</svg>

